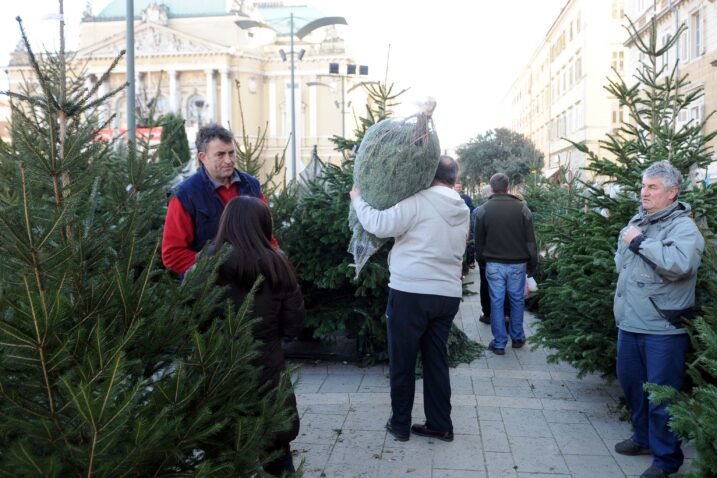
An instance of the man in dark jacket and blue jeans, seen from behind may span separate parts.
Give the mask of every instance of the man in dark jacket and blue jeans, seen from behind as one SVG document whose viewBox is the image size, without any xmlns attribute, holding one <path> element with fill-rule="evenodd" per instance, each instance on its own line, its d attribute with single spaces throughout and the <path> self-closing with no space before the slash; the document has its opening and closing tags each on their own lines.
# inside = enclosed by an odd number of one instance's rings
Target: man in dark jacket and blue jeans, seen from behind
<svg viewBox="0 0 717 478">
<path fill-rule="evenodd" d="M 510 296 L 511 346 L 525 344 L 525 278 L 526 273 L 532 277 L 538 265 L 533 215 L 520 198 L 508 194 L 509 184 L 508 176 L 494 174 L 490 178 L 493 194 L 475 211 L 476 255 L 485 261 L 490 290 L 493 340 L 488 349 L 496 355 L 504 355 L 508 343 L 503 315 L 506 292 Z"/>
</svg>

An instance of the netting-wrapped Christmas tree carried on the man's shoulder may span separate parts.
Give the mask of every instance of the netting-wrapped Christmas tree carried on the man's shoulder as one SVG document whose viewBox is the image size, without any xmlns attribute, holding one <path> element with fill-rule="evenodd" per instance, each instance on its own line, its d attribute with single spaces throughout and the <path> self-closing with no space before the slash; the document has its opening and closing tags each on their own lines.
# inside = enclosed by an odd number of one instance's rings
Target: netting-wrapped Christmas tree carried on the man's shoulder
<svg viewBox="0 0 717 478">
<path fill-rule="evenodd" d="M 408 118 L 391 118 L 371 126 L 361 141 L 354 164 L 354 184 L 363 199 L 383 210 L 426 189 L 438 167 L 441 147 L 431 120 L 435 103 Z M 364 231 L 353 206 L 349 211 L 353 233 L 348 251 L 354 256 L 356 276 L 387 239 Z"/>
</svg>

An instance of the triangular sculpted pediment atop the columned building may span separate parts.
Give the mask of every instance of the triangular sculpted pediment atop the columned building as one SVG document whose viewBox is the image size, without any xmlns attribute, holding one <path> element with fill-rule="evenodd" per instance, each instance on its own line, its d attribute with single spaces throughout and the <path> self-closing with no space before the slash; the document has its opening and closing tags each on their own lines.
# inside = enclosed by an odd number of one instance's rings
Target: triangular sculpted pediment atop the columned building
<svg viewBox="0 0 717 478">
<path fill-rule="evenodd" d="M 228 47 L 156 23 L 144 23 L 134 33 L 136 56 L 226 53 Z M 80 57 L 114 57 L 127 47 L 124 32 L 83 47 Z"/>
</svg>

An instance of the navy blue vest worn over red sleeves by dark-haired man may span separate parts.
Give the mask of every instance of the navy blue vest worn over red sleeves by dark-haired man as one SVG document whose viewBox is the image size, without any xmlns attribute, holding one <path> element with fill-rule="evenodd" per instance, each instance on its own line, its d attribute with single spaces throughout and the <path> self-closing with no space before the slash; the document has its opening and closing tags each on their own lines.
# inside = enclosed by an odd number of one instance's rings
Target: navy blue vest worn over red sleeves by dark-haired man
<svg viewBox="0 0 717 478">
<path fill-rule="evenodd" d="M 239 188 L 239 195 L 260 198 L 261 184 L 259 180 L 251 174 L 236 171 L 240 178 L 239 182 L 235 183 L 235 187 Z M 175 186 L 172 189 L 172 194 L 177 196 L 184 210 L 192 218 L 194 242 L 190 247 L 193 251 L 199 252 L 208 241 L 217 235 L 219 218 L 224 211 L 224 204 L 203 165 L 196 173 Z"/>
</svg>

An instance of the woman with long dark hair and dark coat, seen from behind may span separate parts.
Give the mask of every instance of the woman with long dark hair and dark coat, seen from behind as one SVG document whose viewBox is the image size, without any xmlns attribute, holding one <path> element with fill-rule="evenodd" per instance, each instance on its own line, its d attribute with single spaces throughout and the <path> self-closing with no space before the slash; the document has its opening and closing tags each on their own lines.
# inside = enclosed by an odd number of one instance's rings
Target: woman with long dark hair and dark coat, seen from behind
<svg viewBox="0 0 717 478">
<path fill-rule="evenodd" d="M 304 323 L 304 299 L 294 271 L 283 252 L 272 245 L 272 221 L 269 208 L 261 199 L 238 196 L 229 201 L 219 221 L 213 250 L 231 245 L 227 261 L 219 267 L 217 284 L 228 286 L 228 296 L 241 307 L 256 279 L 264 280 L 254 296 L 253 317 L 261 317 L 252 334 L 261 342 L 256 364 L 261 367 L 259 383 L 279 384 L 284 372 L 281 338 L 299 334 Z M 291 429 L 279 434 L 270 451 L 283 455 L 265 467 L 268 473 L 280 475 L 294 471 L 289 443 L 299 433 L 296 397 L 287 400 L 292 409 Z"/>
</svg>

